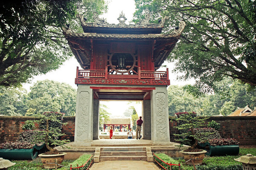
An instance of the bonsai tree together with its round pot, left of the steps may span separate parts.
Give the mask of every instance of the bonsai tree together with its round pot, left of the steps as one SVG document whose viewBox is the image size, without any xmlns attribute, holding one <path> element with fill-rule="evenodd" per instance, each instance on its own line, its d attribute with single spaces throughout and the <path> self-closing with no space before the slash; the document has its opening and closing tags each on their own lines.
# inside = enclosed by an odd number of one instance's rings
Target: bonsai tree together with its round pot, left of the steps
<svg viewBox="0 0 256 170">
<path fill-rule="evenodd" d="M 65 125 L 63 123 L 64 113 L 59 112 L 45 112 L 38 115 L 40 118 L 38 122 L 39 128 L 42 129 L 42 133 L 36 136 L 35 140 L 41 140 L 44 142 L 45 146 L 49 150 L 46 153 L 41 153 L 38 156 L 41 157 L 41 161 L 44 164 L 44 168 L 52 169 L 55 168 L 55 163 L 57 159 L 57 164 L 61 164 L 64 160 L 64 155 L 66 153 L 59 153 L 58 150 L 54 149 L 55 146 L 65 147 L 64 144 L 70 142 L 69 140 L 60 140 L 61 127 Z M 42 139 L 42 136 L 44 137 Z M 58 167 L 60 167 L 58 165 Z"/>
</svg>

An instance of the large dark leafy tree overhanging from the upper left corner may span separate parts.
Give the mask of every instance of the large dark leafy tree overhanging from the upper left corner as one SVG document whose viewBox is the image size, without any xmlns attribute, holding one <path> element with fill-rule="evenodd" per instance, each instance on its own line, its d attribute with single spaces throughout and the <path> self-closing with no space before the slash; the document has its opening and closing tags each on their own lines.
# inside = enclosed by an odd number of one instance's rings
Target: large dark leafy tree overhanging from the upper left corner
<svg viewBox="0 0 256 170">
<path fill-rule="evenodd" d="M 0 85 L 19 86 L 68 59 L 71 51 L 61 28 L 78 12 L 90 16 L 105 9 L 104 0 L 90 2 L 84 0 L 86 8 L 80 0 L 1 1 Z"/>
</svg>

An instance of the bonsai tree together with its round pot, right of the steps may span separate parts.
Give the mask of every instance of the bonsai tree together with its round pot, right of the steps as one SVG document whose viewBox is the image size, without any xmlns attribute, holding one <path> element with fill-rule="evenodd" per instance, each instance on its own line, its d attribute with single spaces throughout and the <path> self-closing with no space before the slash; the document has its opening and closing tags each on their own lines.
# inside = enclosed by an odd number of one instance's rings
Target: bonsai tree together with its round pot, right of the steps
<svg viewBox="0 0 256 170">
<path fill-rule="evenodd" d="M 207 153 L 206 150 L 197 148 L 198 142 L 201 142 L 204 139 L 201 139 L 201 133 L 195 133 L 196 128 L 200 128 L 205 125 L 204 122 L 206 119 L 207 118 L 197 117 L 197 113 L 195 112 L 175 113 L 174 120 L 177 121 L 177 126 L 175 126 L 175 128 L 180 132 L 179 134 L 174 134 L 178 137 L 178 139 L 175 140 L 181 142 L 181 144 L 190 145 L 189 149 L 180 151 L 180 153 L 183 154 L 186 164 L 202 164 L 204 154 Z"/>
</svg>

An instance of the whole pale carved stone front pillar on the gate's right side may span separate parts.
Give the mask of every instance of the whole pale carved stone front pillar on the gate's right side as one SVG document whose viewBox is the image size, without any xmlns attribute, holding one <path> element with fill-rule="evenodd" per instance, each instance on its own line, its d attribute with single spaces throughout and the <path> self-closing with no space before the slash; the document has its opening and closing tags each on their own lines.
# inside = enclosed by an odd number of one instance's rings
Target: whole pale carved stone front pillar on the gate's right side
<svg viewBox="0 0 256 170">
<path fill-rule="evenodd" d="M 155 144 L 170 142 L 168 93 L 165 85 L 151 91 L 151 141 Z"/>
</svg>

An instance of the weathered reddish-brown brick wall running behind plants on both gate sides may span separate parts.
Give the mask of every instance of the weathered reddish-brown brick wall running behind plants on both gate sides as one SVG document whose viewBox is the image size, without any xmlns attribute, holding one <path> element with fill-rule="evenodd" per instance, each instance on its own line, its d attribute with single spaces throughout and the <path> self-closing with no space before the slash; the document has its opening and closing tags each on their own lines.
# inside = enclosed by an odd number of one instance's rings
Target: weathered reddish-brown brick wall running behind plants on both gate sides
<svg viewBox="0 0 256 170">
<path fill-rule="evenodd" d="M 35 120 L 35 117 L 27 116 L 0 116 L 0 143 L 7 141 L 15 141 L 19 134 L 23 131 L 22 126 L 26 120 Z M 215 120 L 221 123 L 219 133 L 223 138 L 235 138 L 240 144 L 256 145 L 256 116 L 214 116 L 209 117 L 208 122 Z M 63 127 L 63 132 L 66 136 L 62 138 L 74 141 L 75 133 L 75 117 L 64 117 L 64 122 L 67 123 Z M 175 142 L 174 133 L 177 129 L 173 128 L 176 122 L 170 122 L 170 139 Z"/>
</svg>

